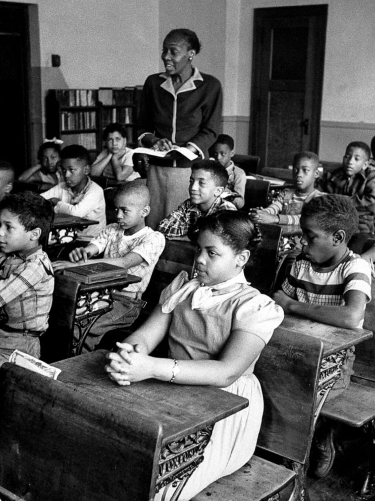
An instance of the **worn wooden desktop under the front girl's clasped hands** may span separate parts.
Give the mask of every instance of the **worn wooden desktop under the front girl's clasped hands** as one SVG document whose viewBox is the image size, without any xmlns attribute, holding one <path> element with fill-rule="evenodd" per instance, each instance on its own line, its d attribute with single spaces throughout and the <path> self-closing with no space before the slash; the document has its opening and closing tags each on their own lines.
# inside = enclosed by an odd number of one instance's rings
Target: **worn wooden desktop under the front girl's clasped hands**
<svg viewBox="0 0 375 501">
<path fill-rule="evenodd" d="M 97 350 L 52 364 L 58 381 L 89 392 L 103 406 L 118 403 L 163 427 L 163 444 L 194 433 L 248 406 L 246 398 L 212 386 L 171 384 L 148 379 L 119 386 L 104 372 L 106 350 Z"/>
</svg>

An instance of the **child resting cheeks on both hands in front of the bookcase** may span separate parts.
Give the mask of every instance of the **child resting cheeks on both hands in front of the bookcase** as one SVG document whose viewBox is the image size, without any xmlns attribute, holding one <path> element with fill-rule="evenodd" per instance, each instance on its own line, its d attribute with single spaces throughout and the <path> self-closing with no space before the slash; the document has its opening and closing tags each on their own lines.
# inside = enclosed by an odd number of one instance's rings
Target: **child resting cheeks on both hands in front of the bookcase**
<svg viewBox="0 0 375 501">
<path fill-rule="evenodd" d="M 91 165 L 92 176 L 104 176 L 116 181 L 133 181 L 140 177 L 133 169 L 133 149 L 126 146 L 126 130 L 115 122 L 103 132 L 105 148 Z"/>
</svg>

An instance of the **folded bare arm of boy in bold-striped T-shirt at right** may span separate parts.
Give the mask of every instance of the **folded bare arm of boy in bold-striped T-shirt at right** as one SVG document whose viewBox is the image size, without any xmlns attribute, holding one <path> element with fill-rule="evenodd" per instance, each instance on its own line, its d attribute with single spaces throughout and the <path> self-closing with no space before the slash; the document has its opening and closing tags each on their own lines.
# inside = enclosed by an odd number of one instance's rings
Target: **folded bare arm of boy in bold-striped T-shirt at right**
<svg viewBox="0 0 375 501">
<path fill-rule="evenodd" d="M 324 306 L 299 302 L 282 290 L 278 290 L 274 294 L 274 300 L 285 313 L 294 313 L 317 322 L 355 329 L 363 320 L 367 296 L 360 290 L 348 290 L 344 294 L 345 305 Z"/>
</svg>

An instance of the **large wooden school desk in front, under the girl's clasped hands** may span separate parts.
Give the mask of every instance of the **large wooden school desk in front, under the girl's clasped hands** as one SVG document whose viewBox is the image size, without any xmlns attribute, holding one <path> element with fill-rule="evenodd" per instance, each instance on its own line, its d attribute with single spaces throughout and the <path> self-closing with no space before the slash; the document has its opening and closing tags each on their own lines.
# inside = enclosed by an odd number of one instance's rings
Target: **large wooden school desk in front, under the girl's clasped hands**
<svg viewBox="0 0 375 501">
<path fill-rule="evenodd" d="M 210 386 L 119 386 L 104 372 L 106 353 L 54 364 L 62 369 L 57 381 L 4 364 L 6 489 L 39 501 L 148 501 L 170 482 L 182 487 L 204 460 L 213 425 L 248 406 Z"/>
</svg>

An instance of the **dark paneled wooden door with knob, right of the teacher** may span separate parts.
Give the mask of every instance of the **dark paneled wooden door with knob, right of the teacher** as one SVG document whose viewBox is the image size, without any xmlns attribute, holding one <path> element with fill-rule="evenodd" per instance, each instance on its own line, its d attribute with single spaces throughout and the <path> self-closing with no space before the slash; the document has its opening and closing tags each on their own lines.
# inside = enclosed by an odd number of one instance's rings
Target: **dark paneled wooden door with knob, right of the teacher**
<svg viewBox="0 0 375 501">
<path fill-rule="evenodd" d="M 254 9 L 250 151 L 260 168 L 318 152 L 327 5 Z"/>
</svg>

